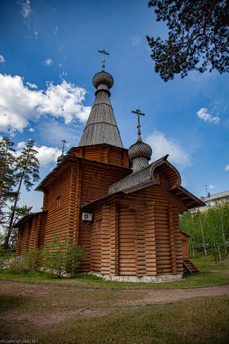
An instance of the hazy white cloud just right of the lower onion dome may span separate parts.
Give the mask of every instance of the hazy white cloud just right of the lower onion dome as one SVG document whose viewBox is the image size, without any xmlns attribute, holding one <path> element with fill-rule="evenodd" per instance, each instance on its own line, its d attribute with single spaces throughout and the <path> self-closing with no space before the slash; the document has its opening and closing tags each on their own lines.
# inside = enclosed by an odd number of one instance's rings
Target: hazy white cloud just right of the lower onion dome
<svg viewBox="0 0 229 344">
<path fill-rule="evenodd" d="M 173 138 L 167 138 L 164 133 L 154 130 L 154 132 L 147 137 L 146 142 L 152 147 L 153 159 L 159 159 L 166 154 L 169 154 L 168 160 L 171 163 L 178 165 L 191 165 L 190 154 L 186 152 L 181 144 Z"/>
</svg>

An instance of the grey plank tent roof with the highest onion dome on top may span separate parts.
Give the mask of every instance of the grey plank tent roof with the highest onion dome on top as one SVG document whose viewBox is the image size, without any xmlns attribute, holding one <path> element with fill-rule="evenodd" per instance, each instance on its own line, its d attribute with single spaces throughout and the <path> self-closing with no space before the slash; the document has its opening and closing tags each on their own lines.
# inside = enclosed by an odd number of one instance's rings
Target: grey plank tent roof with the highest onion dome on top
<svg viewBox="0 0 229 344">
<path fill-rule="evenodd" d="M 83 130 L 79 146 L 107 143 L 123 148 L 122 139 L 109 99 L 110 91 L 108 89 L 113 85 L 111 78 L 112 76 L 106 72 L 97 73 L 93 77 L 93 85 L 97 88 L 95 93 L 96 98 Z M 97 80 L 99 82 L 98 84 L 96 83 Z"/>
</svg>

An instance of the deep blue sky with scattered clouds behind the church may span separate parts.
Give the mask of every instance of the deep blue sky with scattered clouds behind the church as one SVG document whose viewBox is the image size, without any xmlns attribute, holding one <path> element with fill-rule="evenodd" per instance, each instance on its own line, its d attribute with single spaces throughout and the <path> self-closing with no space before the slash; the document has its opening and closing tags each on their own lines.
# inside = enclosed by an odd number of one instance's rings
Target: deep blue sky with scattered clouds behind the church
<svg viewBox="0 0 229 344">
<path fill-rule="evenodd" d="M 125 148 L 142 139 L 152 160 L 169 154 L 182 185 L 197 197 L 229 190 L 228 74 L 191 72 L 164 83 L 154 73 L 145 36 L 167 37 L 147 1 L 0 2 L 0 135 L 20 151 L 35 140 L 45 177 L 62 142 L 77 146 L 94 102 L 92 77 L 112 74 L 111 103 Z M 36 186 L 36 185 L 35 185 Z M 34 188 L 35 188 L 34 186 Z M 19 204 L 42 207 L 43 194 L 23 189 Z"/>
</svg>

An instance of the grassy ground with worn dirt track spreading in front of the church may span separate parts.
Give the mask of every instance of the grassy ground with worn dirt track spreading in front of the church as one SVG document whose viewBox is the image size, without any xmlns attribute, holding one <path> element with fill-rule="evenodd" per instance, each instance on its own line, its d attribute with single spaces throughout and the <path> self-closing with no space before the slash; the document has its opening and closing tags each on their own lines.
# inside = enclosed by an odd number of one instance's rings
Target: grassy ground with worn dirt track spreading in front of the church
<svg viewBox="0 0 229 344">
<path fill-rule="evenodd" d="M 0 339 L 44 344 L 229 343 L 229 295 L 214 294 L 220 288 L 228 291 L 227 261 L 217 266 L 214 258 L 201 254 L 192 260 L 203 273 L 185 273 L 184 280 L 165 283 L 2 272 Z"/>
</svg>

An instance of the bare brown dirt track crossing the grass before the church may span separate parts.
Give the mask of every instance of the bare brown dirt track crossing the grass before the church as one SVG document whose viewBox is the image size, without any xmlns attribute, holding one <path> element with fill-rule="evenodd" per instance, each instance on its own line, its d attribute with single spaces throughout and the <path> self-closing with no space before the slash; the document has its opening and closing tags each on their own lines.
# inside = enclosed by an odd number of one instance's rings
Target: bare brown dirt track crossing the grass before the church
<svg viewBox="0 0 229 344">
<path fill-rule="evenodd" d="M 170 303 L 194 297 L 229 296 L 229 285 L 172 290 L 103 290 L 0 280 L 3 304 L 0 320 L 28 320 L 37 327 L 81 316 L 102 316 L 122 307 Z M 10 301 L 4 301 L 10 302 Z M 1 306 L 1 305 L 0 305 Z"/>
</svg>

